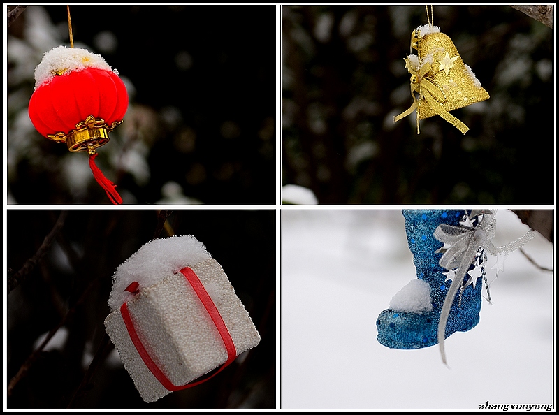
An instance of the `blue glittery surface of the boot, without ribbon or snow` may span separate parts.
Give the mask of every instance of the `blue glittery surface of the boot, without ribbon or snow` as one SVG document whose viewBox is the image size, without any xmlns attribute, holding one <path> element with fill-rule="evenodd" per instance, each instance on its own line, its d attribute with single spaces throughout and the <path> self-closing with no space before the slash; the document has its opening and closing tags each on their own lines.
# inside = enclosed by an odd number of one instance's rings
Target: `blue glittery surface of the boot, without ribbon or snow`
<svg viewBox="0 0 559 415">
<path fill-rule="evenodd" d="M 445 282 L 446 272 L 439 265 L 442 253 L 435 251 L 443 246 L 433 236 L 439 224 L 458 226 L 464 210 L 402 210 L 405 218 L 407 242 L 414 256 L 414 265 L 419 279 L 431 287 L 430 312 L 393 312 L 384 310 L 377 319 L 377 340 L 391 349 L 419 349 L 437 344 L 437 327 L 444 297 L 451 284 Z M 444 337 L 456 331 L 467 331 L 479 322 L 481 310 L 481 277 L 476 286 L 470 284 L 462 293 L 460 291 L 452 303 Z"/>
</svg>

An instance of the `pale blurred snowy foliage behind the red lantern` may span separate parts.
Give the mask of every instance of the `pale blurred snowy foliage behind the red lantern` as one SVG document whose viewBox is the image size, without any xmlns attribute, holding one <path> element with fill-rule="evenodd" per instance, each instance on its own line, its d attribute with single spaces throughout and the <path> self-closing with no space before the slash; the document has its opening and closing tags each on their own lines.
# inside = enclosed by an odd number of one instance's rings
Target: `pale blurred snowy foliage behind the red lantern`
<svg viewBox="0 0 559 415">
<path fill-rule="evenodd" d="M 27 115 L 27 104 L 34 89 L 34 71 L 36 65 L 43 59 L 43 54 L 61 44 L 68 44 L 61 31 L 55 27 L 50 16 L 40 6 L 28 7 L 25 11 L 25 21 L 22 29 L 22 38 L 8 34 L 8 192 L 10 182 L 17 180 L 17 168 L 22 163 L 35 165 L 43 169 L 48 176 L 56 176 L 58 186 L 73 196 L 68 203 L 85 203 L 88 201 L 88 187 L 94 184 L 94 177 L 89 170 L 87 157 L 83 154 L 70 152 L 49 152 L 49 147 L 57 147 L 59 150 L 64 145 L 50 142 L 40 136 L 34 129 L 29 115 Z M 107 37 L 106 34 L 101 36 Z M 107 43 L 106 41 L 103 43 Z M 85 48 L 94 51 L 89 45 L 74 44 L 75 48 Z M 68 45 L 69 47 L 69 45 Z M 128 80 L 128 85 L 130 81 Z M 132 85 L 133 86 L 133 85 Z M 132 117 L 134 112 L 133 103 L 129 106 L 126 118 Z M 145 184 L 150 178 L 150 168 L 147 165 L 146 156 L 149 152 L 147 145 L 140 140 L 127 143 L 129 148 L 122 152 L 122 145 L 129 140 L 122 136 L 122 129 L 116 129 L 110 133 L 110 144 L 99 150 L 101 157 L 98 163 L 101 169 L 115 171 L 121 168 L 124 173 L 130 173 L 137 184 Z M 124 143 L 123 143 L 124 141 Z M 104 166 L 103 166 L 104 164 Z M 125 203 L 135 203 L 136 200 L 126 194 Z M 12 203 L 18 203 L 17 198 L 10 194 Z"/>
</svg>

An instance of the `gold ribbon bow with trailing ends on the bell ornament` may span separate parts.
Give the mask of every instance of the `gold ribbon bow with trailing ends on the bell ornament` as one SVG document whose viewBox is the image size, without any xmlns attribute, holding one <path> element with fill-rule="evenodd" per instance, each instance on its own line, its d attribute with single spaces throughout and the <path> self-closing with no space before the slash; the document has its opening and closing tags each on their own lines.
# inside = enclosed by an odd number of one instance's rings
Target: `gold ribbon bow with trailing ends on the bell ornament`
<svg viewBox="0 0 559 415">
<path fill-rule="evenodd" d="M 411 78 L 409 78 L 409 86 L 412 92 L 414 103 L 412 103 L 412 106 L 402 112 L 400 115 L 396 115 L 394 117 L 394 122 L 407 117 L 421 105 L 429 105 L 430 108 L 433 109 L 433 111 L 437 112 L 437 115 L 440 115 L 444 120 L 455 126 L 457 129 L 460 130 L 461 133 L 467 133 L 470 128 L 466 124 L 461 122 L 460 119 L 454 117 L 453 115 L 450 115 L 450 113 L 443 108 L 442 103 L 447 101 L 447 97 L 444 95 L 444 92 L 439 87 L 439 85 L 437 85 L 437 83 L 434 80 L 430 79 L 430 77 L 428 76 L 428 73 L 431 70 L 431 65 L 423 64 L 418 72 L 411 67 L 411 64 L 409 64 L 409 61 L 407 59 L 405 60 L 407 62 L 407 70 L 409 71 L 409 73 L 412 74 Z M 414 92 L 417 92 L 419 94 L 419 98 L 418 96 L 416 96 L 416 94 L 414 94 Z M 417 133 L 419 134 L 419 113 L 416 117 L 416 124 Z"/>
</svg>

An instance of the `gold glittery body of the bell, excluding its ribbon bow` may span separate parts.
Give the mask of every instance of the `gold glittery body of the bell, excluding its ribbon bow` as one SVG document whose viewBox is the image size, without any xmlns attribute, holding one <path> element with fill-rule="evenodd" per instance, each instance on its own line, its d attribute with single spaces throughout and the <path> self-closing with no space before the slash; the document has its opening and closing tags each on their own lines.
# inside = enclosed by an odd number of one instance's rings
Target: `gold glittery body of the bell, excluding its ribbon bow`
<svg viewBox="0 0 559 415">
<path fill-rule="evenodd" d="M 419 38 L 418 55 L 421 64 L 433 59 L 431 70 L 426 73 L 425 78 L 430 79 L 443 92 L 446 99 L 439 102 L 439 105 L 444 110 L 456 110 L 489 98 L 479 81 L 475 82 L 468 73 L 449 36 L 432 33 Z M 418 105 L 419 119 L 439 115 L 423 97 L 420 97 Z"/>
</svg>

